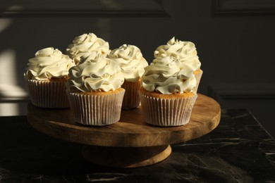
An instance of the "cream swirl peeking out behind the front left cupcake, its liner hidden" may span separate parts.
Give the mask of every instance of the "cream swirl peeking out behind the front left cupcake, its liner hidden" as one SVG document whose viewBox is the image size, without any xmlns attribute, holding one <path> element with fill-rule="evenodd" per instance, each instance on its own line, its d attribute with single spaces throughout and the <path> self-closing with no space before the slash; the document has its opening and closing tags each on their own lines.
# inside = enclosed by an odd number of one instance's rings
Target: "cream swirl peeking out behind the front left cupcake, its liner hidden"
<svg viewBox="0 0 275 183">
<path fill-rule="evenodd" d="M 106 56 L 110 52 L 109 43 L 105 42 L 93 33 L 82 34 L 75 37 L 75 39 L 73 39 L 73 43 L 68 45 L 66 51 L 68 56 L 75 60 L 75 63 L 78 63 L 80 57 L 85 53 L 95 51 Z"/>
</svg>

